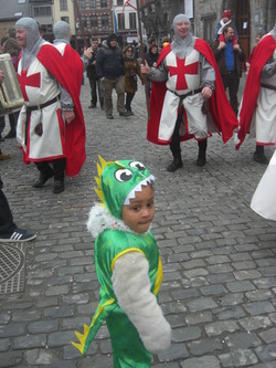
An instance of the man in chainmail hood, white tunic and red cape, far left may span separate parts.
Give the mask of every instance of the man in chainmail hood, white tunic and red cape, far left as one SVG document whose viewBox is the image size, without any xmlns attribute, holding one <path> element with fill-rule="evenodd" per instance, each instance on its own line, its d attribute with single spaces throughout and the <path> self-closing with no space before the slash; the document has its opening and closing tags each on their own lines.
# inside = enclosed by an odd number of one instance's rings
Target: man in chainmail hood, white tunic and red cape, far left
<svg viewBox="0 0 276 368">
<path fill-rule="evenodd" d="M 36 21 L 21 18 L 15 32 L 22 46 L 18 77 L 24 97 L 18 140 L 24 162 L 34 162 L 40 171 L 34 188 L 42 188 L 54 177 L 53 192 L 60 193 L 64 190 L 65 171 L 76 176 L 86 158 L 79 87 L 75 74 L 70 77 L 74 73 L 71 64 L 41 38 Z"/>
</svg>

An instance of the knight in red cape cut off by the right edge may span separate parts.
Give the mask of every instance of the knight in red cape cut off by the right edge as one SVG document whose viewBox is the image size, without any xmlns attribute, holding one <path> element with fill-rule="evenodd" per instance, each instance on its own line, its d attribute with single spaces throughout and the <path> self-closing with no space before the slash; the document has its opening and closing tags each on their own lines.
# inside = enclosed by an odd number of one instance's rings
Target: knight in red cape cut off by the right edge
<svg viewBox="0 0 276 368">
<path fill-rule="evenodd" d="M 276 144 L 276 25 L 263 36 L 257 44 L 252 59 L 250 72 L 245 82 L 243 102 L 240 111 L 241 146 L 250 132 L 256 137 L 254 160 L 268 164 L 264 155 L 265 146 Z"/>
</svg>

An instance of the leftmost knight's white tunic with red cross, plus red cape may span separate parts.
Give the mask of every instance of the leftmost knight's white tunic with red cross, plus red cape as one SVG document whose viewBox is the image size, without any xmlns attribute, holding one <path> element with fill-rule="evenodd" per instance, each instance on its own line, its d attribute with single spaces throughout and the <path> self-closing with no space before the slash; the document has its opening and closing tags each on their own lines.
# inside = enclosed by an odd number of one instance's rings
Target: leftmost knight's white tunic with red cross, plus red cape
<svg viewBox="0 0 276 368">
<path fill-rule="evenodd" d="M 79 87 L 77 81 L 68 76 L 70 70 L 62 55 L 47 42 L 42 44 L 25 71 L 19 60 L 18 77 L 25 103 L 19 115 L 17 137 L 25 164 L 65 157 L 66 175 L 75 176 L 86 157 L 85 126 Z M 71 124 L 65 124 L 62 114 L 59 83 L 74 103 L 75 119 Z M 50 103 L 49 106 L 40 108 L 45 103 Z"/>
</svg>

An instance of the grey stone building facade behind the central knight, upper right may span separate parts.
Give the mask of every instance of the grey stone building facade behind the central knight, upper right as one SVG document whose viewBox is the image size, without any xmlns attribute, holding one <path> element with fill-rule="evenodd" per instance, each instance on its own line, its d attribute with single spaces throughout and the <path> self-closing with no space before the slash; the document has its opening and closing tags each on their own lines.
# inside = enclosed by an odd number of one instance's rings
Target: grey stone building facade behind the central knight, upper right
<svg viewBox="0 0 276 368">
<path fill-rule="evenodd" d="M 153 38 L 158 45 L 164 35 L 171 36 L 172 20 L 180 12 L 191 14 L 194 35 L 212 42 L 222 12 L 230 9 L 238 40 L 248 55 L 259 28 L 268 32 L 276 20 L 275 0 L 140 0 L 140 3 L 147 36 Z"/>
</svg>

